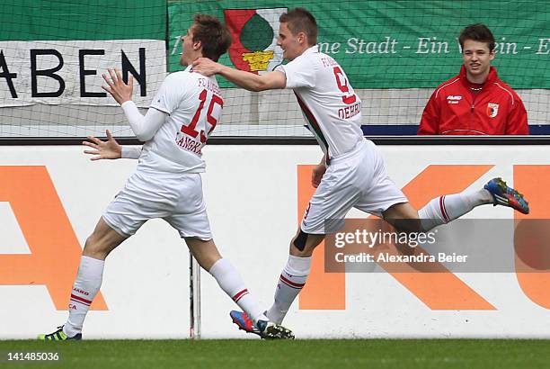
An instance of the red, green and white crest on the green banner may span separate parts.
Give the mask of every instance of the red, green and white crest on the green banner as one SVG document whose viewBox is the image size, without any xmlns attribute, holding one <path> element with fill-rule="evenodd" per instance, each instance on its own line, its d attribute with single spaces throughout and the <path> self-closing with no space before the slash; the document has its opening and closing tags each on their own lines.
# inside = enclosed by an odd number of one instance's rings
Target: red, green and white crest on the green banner
<svg viewBox="0 0 550 369">
<path fill-rule="evenodd" d="M 233 36 L 229 58 L 235 67 L 262 74 L 282 62 L 282 50 L 277 47 L 279 16 L 287 11 L 287 8 L 224 10 Z"/>
</svg>

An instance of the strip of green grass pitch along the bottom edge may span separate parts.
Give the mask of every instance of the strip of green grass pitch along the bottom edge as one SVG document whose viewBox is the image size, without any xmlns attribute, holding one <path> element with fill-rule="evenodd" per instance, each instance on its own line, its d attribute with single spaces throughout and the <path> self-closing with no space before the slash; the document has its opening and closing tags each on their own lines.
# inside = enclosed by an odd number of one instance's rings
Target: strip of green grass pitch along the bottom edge
<svg viewBox="0 0 550 369">
<path fill-rule="evenodd" d="M 7 361 L 56 352 L 59 362 Z M 549 340 L 260 339 L 0 341 L 0 368 L 548 368 Z"/>
</svg>

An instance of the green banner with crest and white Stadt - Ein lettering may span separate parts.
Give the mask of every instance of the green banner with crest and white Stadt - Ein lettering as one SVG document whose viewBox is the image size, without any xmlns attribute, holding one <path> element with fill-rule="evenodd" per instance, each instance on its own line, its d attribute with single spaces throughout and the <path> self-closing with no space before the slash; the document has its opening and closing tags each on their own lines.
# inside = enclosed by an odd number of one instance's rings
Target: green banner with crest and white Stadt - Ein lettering
<svg viewBox="0 0 550 369">
<path fill-rule="evenodd" d="M 434 87 L 457 75 L 457 41 L 468 24 L 485 23 L 497 41 L 493 65 L 513 88 L 550 88 L 547 1 L 169 1 L 169 69 L 179 70 L 180 37 L 194 14 L 216 15 L 234 35 L 226 65 L 262 73 L 282 61 L 279 14 L 311 11 L 319 46 L 355 88 Z M 221 78 L 220 78 L 221 79 Z M 222 81 L 223 86 L 229 86 Z"/>
</svg>

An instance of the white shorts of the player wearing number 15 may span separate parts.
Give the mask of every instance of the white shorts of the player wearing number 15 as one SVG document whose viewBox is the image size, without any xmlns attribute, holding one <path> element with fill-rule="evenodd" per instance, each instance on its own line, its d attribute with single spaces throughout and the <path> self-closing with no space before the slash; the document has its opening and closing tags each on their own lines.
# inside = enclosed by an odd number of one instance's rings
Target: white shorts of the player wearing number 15
<svg viewBox="0 0 550 369">
<path fill-rule="evenodd" d="M 103 220 L 124 237 L 154 218 L 166 220 L 182 238 L 211 239 L 200 174 L 137 171 L 103 212 Z"/>
</svg>

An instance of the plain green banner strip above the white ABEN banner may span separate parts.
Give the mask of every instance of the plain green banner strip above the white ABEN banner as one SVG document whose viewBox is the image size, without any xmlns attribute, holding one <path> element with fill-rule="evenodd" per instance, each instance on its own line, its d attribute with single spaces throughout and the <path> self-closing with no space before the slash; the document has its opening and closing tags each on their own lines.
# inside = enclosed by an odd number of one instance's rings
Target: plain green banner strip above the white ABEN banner
<svg viewBox="0 0 550 369">
<path fill-rule="evenodd" d="M 3 0 L 0 40 L 164 40 L 165 0 Z"/>
</svg>

